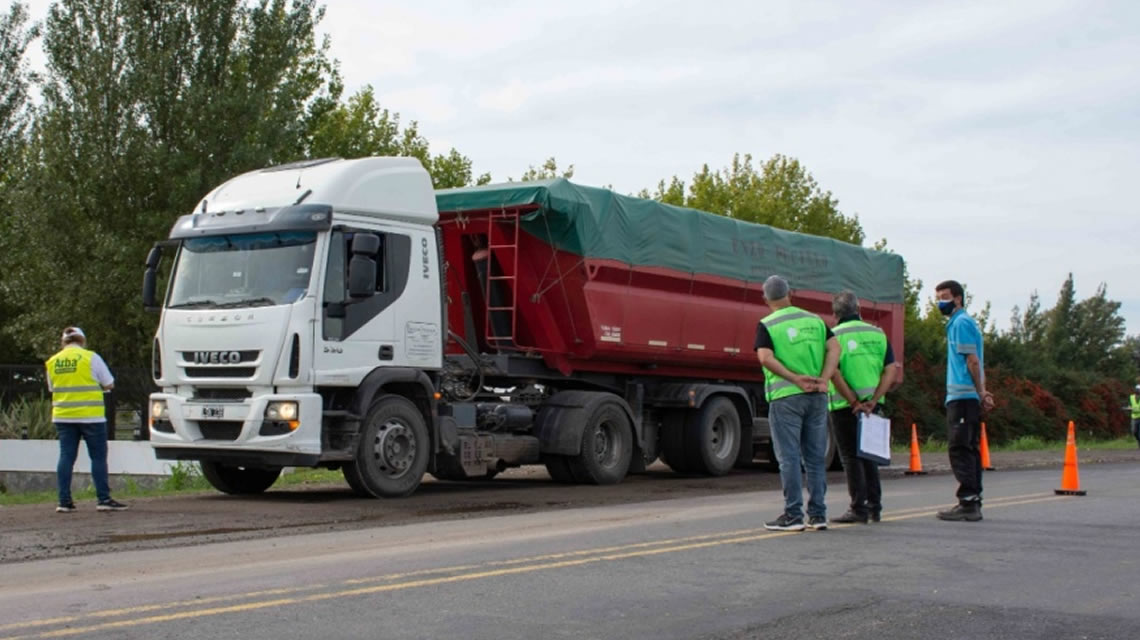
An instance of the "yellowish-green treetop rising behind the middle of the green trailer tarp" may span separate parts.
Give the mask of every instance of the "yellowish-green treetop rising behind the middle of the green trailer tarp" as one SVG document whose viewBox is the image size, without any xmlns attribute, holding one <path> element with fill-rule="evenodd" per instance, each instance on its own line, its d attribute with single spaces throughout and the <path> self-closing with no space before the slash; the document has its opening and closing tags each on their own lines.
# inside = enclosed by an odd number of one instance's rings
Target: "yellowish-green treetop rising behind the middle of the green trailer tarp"
<svg viewBox="0 0 1140 640">
<path fill-rule="evenodd" d="M 831 192 L 821 189 L 798 160 L 780 154 L 759 169 L 752 167 L 751 155 L 735 154 L 724 169 L 714 171 L 708 164 L 701 167 L 687 189 L 685 183 L 674 176 L 658 183 L 654 191 L 644 189 L 640 195 L 852 244 L 862 244 L 864 240 L 858 216 L 839 211 L 839 201 Z"/>
</svg>

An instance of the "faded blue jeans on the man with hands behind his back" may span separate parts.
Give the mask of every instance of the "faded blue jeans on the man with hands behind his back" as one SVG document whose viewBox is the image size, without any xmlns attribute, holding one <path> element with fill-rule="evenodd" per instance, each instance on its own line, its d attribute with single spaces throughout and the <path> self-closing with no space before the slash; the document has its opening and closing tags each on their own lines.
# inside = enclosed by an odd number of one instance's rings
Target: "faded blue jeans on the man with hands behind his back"
<svg viewBox="0 0 1140 640">
<path fill-rule="evenodd" d="M 803 472 L 807 471 L 807 515 L 825 518 L 828 395 L 797 394 L 773 400 L 768 405 L 768 423 L 772 427 L 772 446 L 780 461 L 784 513 L 791 518 L 804 517 Z"/>
</svg>

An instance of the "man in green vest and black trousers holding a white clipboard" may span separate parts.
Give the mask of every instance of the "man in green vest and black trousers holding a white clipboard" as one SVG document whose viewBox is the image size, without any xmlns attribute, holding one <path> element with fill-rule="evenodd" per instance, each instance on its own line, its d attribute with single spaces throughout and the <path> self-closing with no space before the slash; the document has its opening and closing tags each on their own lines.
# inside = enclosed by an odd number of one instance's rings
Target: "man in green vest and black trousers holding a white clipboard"
<svg viewBox="0 0 1140 640">
<path fill-rule="evenodd" d="M 882 512 L 879 464 L 858 457 L 858 416 L 870 415 L 895 382 L 895 355 L 881 329 L 860 318 L 858 298 L 841 291 L 831 300 L 839 322 L 831 330 L 839 342 L 839 368 L 832 375 L 831 428 L 847 473 L 850 507 L 833 522 L 876 522 Z"/>
</svg>

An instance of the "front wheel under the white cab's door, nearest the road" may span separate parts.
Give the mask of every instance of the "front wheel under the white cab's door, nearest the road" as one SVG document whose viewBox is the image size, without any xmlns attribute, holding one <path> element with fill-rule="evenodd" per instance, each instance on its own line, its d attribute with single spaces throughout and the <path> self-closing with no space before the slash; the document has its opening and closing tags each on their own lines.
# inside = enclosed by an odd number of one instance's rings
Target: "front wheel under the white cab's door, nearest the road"
<svg viewBox="0 0 1140 640">
<path fill-rule="evenodd" d="M 427 424 L 416 405 L 401 396 L 381 396 L 365 414 L 356 459 L 344 463 L 344 477 L 353 477 L 353 489 L 359 483 L 376 497 L 404 497 L 420 486 L 430 455 Z"/>
</svg>

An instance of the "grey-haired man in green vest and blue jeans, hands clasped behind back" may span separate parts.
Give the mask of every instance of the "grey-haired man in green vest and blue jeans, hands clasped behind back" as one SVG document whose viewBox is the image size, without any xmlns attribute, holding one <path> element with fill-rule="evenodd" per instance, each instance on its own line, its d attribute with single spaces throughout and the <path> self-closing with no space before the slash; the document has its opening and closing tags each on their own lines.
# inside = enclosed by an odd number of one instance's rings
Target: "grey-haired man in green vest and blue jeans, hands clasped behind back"
<svg viewBox="0 0 1140 640">
<path fill-rule="evenodd" d="M 839 343 L 823 319 L 789 299 L 788 281 L 764 282 L 772 313 L 756 326 L 756 355 L 764 366 L 772 446 L 780 462 L 784 511 L 764 527 L 780 532 L 828 528 L 824 459 L 828 453 L 828 380 L 839 362 Z M 803 471 L 807 473 L 804 521 Z"/>
</svg>

